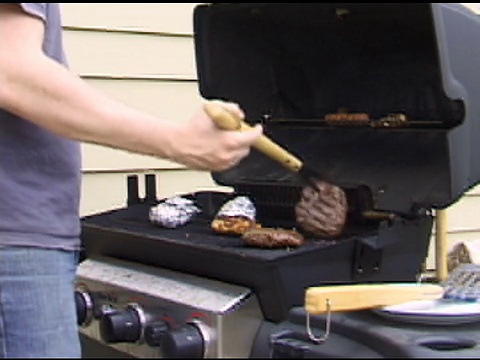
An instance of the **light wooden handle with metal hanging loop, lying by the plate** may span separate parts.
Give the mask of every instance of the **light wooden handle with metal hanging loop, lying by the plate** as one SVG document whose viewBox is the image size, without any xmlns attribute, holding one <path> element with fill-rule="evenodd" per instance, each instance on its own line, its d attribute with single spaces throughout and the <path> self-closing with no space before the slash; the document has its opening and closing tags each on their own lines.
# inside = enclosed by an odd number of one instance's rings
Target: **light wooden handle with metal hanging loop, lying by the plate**
<svg viewBox="0 0 480 360">
<path fill-rule="evenodd" d="M 305 310 L 310 315 L 356 311 L 443 297 L 436 284 L 388 283 L 311 287 L 305 293 Z"/>
</svg>

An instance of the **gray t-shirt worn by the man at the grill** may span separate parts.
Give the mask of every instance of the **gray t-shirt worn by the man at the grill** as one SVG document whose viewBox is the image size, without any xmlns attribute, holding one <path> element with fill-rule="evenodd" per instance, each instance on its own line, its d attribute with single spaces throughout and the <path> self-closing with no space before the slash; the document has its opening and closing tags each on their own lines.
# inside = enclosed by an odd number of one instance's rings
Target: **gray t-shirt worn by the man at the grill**
<svg viewBox="0 0 480 360">
<path fill-rule="evenodd" d="M 44 21 L 44 53 L 67 66 L 59 4 L 20 5 Z M 79 249 L 80 179 L 78 142 L 0 109 L 0 246 Z"/>
</svg>

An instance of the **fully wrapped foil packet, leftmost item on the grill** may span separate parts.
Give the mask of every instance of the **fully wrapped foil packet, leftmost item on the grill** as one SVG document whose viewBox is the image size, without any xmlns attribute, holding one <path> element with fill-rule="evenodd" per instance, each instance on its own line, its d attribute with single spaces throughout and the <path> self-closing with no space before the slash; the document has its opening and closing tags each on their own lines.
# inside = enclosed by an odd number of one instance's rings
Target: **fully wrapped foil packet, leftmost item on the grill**
<svg viewBox="0 0 480 360">
<path fill-rule="evenodd" d="M 200 212 L 194 201 L 174 196 L 150 208 L 149 219 L 156 225 L 175 229 L 187 224 Z"/>
</svg>

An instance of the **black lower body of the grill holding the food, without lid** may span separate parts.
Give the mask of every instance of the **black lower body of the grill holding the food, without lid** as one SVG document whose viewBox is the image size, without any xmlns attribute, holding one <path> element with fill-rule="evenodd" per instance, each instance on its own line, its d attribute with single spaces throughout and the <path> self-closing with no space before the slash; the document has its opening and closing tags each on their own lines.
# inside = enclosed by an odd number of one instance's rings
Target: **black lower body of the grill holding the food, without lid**
<svg viewBox="0 0 480 360">
<path fill-rule="evenodd" d="M 300 248 L 266 250 L 211 229 L 213 217 L 231 194 L 188 196 L 203 209 L 202 215 L 173 230 L 149 222 L 152 204 L 148 202 L 85 218 L 87 254 L 133 260 L 252 288 L 265 318 L 280 321 L 293 306 L 303 305 L 304 290 L 315 284 L 415 281 L 432 228 L 431 216 L 425 216 L 389 225 L 368 224 L 361 233 L 355 233 L 361 229 L 357 227 L 335 241 L 311 238 Z M 265 217 L 258 202 L 257 207 L 262 224 L 279 226 L 276 218 Z M 285 225 L 285 219 L 281 220 Z M 294 224 L 290 218 L 289 226 Z"/>
</svg>

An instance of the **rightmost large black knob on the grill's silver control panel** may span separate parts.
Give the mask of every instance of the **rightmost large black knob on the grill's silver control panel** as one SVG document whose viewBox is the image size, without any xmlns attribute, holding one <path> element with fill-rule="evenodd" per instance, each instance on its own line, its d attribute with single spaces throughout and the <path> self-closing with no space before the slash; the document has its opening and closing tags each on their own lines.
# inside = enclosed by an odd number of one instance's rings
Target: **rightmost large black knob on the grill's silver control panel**
<svg viewBox="0 0 480 360">
<path fill-rule="evenodd" d="M 187 325 L 162 336 L 162 356 L 166 358 L 201 359 L 204 357 L 205 343 L 199 329 Z"/>
</svg>

